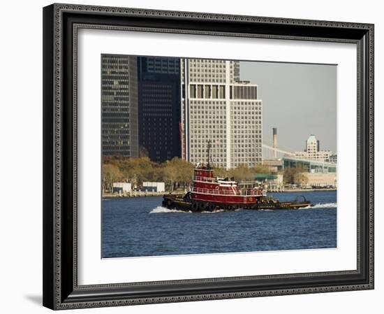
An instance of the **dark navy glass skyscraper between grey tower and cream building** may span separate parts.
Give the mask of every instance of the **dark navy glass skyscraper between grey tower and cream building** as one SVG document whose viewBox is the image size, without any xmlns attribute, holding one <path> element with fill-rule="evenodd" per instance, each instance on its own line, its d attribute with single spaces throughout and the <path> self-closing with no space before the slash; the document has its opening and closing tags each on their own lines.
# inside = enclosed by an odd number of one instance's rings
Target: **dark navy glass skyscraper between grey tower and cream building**
<svg viewBox="0 0 384 314">
<path fill-rule="evenodd" d="M 155 162 L 181 157 L 180 59 L 138 57 L 140 152 Z"/>
</svg>

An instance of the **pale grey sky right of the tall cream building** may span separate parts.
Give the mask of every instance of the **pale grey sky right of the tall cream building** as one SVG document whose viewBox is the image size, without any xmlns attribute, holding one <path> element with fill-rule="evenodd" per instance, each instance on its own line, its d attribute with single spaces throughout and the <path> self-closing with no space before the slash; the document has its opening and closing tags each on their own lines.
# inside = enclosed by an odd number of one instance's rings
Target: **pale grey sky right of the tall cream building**
<svg viewBox="0 0 384 314">
<path fill-rule="evenodd" d="M 263 100 L 263 142 L 303 151 L 309 135 L 320 141 L 320 150 L 337 148 L 337 66 L 278 62 L 240 62 L 240 79 L 258 85 Z M 263 150 L 263 157 L 272 152 Z"/>
</svg>

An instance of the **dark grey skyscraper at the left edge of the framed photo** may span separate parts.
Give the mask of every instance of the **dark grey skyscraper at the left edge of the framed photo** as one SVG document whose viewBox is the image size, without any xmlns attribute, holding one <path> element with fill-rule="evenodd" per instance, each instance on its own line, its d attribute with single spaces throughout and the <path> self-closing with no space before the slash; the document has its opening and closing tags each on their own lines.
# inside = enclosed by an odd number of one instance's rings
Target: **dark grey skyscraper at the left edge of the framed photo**
<svg viewBox="0 0 384 314">
<path fill-rule="evenodd" d="M 101 55 L 103 156 L 138 157 L 137 58 Z"/>
</svg>

